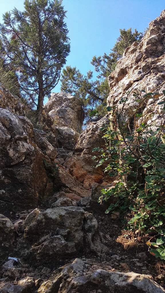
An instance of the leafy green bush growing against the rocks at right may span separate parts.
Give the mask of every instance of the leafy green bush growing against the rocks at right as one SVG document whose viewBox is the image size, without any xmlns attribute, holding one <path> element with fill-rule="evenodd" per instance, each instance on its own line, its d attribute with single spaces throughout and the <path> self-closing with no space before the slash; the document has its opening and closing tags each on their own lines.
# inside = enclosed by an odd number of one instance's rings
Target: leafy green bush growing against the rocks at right
<svg viewBox="0 0 165 293">
<path fill-rule="evenodd" d="M 165 95 L 165 91 L 163 93 Z M 156 244 L 148 241 L 149 251 L 165 259 L 165 121 L 155 127 L 153 114 L 150 116 L 152 122 L 146 121 L 143 117 L 144 103 L 159 94 L 142 95 L 140 91 L 133 94 L 139 105 L 129 127 L 120 119 L 128 96 L 119 101 L 121 110 L 118 106 L 107 107 L 114 119 L 111 125 L 102 127 L 106 144 L 104 148 L 93 149 L 100 153 L 93 159 L 97 166 L 105 166 L 105 172 L 114 176 L 117 183 L 112 188 L 103 188 L 98 201 L 111 202 L 106 213 L 130 210 L 132 217 L 129 217 L 126 228 L 141 234 L 154 233 L 152 238 L 157 239 Z M 156 122 L 164 120 L 165 101 L 159 104 L 162 105 L 162 114 L 156 117 Z M 156 249 L 151 249 L 152 246 Z"/>
</svg>

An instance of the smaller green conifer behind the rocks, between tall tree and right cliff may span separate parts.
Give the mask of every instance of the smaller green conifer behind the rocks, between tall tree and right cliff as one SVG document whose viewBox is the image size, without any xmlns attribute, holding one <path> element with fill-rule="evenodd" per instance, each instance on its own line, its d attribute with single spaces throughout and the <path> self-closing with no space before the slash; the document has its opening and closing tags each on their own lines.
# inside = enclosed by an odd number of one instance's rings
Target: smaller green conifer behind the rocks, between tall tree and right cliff
<svg viewBox="0 0 165 293">
<path fill-rule="evenodd" d="M 61 91 L 82 99 L 85 104 L 86 113 L 96 108 L 100 112 L 100 108 L 102 108 L 104 110 L 102 115 L 104 115 L 106 99 L 109 93 L 107 76 L 115 70 L 117 60 L 122 57 L 124 50 L 133 42 L 140 42 L 141 39 L 142 33 L 138 33 L 136 29 L 134 32 L 132 32 L 131 28 L 128 30 L 120 29 L 120 36 L 117 38 L 112 52 L 109 55 L 104 53 L 103 56 L 94 56 L 92 58 L 91 64 L 98 73 L 97 79 L 92 79 L 93 73 L 91 70 L 87 72 L 86 76 L 83 76 L 76 67 L 66 66 L 61 77 Z M 96 111 L 93 113 L 96 113 Z"/>
</svg>

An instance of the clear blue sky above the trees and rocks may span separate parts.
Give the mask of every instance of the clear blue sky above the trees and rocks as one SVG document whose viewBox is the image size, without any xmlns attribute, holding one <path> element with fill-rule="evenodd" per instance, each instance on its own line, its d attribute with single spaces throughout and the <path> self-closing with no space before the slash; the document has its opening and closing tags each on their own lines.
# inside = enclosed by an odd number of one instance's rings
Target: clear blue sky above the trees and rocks
<svg viewBox="0 0 165 293">
<path fill-rule="evenodd" d="M 23 10 L 23 0 L 1 1 L 0 22 L 5 11 L 16 6 Z M 85 74 L 93 70 L 90 61 L 110 49 L 119 36 L 119 28 L 137 28 L 143 32 L 163 9 L 164 0 L 63 0 L 71 44 L 67 65 Z M 58 84 L 55 92 L 60 91 Z"/>
</svg>

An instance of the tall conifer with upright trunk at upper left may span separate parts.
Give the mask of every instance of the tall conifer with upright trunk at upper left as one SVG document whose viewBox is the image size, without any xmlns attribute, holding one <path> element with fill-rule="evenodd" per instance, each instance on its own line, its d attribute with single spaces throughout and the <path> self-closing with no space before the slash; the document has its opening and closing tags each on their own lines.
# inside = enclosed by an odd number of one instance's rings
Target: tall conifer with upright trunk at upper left
<svg viewBox="0 0 165 293">
<path fill-rule="evenodd" d="M 40 122 L 44 97 L 60 79 L 70 52 L 65 13 L 58 0 L 25 0 L 3 15 L 1 39 L 6 59 L 14 68 L 22 94 L 37 107 Z"/>
</svg>

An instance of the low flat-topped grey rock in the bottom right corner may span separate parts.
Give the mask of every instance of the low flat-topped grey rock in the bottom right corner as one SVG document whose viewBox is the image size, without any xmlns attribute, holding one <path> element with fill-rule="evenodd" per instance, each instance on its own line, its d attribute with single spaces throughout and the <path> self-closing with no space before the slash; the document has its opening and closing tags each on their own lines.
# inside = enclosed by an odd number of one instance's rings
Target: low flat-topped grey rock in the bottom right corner
<svg viewBox="0 0 165 293">
<path fill-rule="evenodd" d="M 87 290 L 92 293 L 93 290 L 100 289 L 105 293 L 109 293 L 111 288 L 115 293 L 163 293 L 165 290 L 153 281 L 149 275 L 140 275 L 134 272 L 107 272 L 105 270 L 96 270 L 89 275 L 75 277 L 71 280 L 67 293 L 82 292 Z M 65 293 L 65 289 L 58 293 Z M 112 291 L 113 292 L 113 291 Z"/>
</svg>

